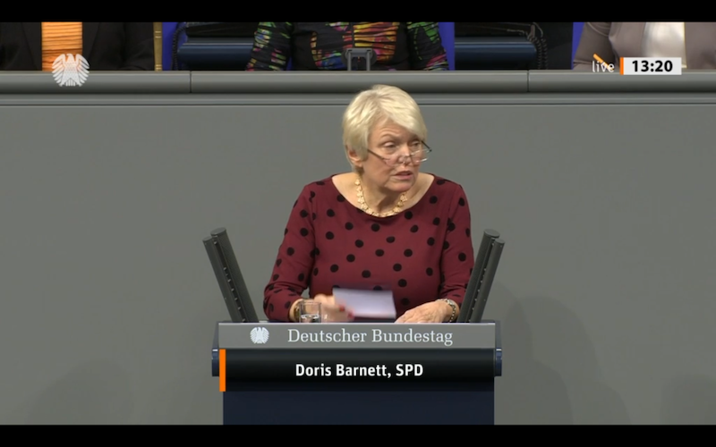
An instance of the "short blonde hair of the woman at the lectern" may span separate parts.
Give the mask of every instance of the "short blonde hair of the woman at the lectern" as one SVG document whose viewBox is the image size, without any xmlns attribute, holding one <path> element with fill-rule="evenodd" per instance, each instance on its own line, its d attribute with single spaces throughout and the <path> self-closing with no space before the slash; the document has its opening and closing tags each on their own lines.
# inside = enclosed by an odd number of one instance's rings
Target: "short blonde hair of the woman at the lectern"
<svg viewBox="0 0 716 447">
<path fill-rule="evenodd" d="M 418 139 L 428 139 L 428 129 L 420 107 L 404 90 L 376 85 L 354 97 L 343 114 L 343 144 L 364 160 L 368 141 L 376 126 L 393 123 L 412 132 Z M 348 160 L 350 162 L 350 159 Z"/>
</svg>

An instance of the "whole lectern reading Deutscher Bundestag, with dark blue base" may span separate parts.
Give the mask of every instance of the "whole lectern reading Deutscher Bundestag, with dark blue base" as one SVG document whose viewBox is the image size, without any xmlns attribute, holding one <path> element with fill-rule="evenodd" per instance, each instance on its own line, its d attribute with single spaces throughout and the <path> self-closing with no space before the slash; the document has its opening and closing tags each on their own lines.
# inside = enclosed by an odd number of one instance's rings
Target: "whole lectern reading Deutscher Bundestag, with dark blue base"
<svg viewBox="0 0 716 447">
<path fill-rule="evenodd" d="M 225 425 L 492 425 L 499 323 L 218 323 Z"/>
</svg>

